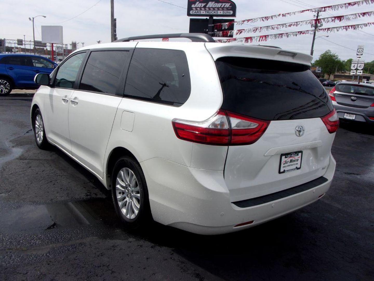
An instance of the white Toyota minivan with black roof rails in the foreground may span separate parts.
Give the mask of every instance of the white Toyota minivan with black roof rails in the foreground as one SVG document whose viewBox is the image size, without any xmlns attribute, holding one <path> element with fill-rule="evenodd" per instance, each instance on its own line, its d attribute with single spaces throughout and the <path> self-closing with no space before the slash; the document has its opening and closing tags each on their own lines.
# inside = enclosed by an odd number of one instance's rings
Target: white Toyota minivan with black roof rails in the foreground
<svg viewBox="0 0 374 281">
<path fill-rule="evenodd" d="M 84 46 L 38 74 L 37 146 L 91 171 L 126 227 L 227 233 L 324 196 L 339 120 L 310 55 L 160 36 Z M 195 42 L 129 42 L 162 37 Z"/>
</svg>

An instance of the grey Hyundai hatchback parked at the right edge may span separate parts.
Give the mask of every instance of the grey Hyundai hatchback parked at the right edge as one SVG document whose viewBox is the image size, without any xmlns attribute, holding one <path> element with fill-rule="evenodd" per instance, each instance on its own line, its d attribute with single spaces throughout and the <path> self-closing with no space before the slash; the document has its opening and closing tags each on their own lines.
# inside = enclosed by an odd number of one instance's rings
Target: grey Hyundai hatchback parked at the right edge
<svg viewBox="0 0 374 281">
<path fill-rule="evenodd" d="M 374 85 L 341 82 L 329 92 L 338 117 L 374 124 Z"/>
</svg>

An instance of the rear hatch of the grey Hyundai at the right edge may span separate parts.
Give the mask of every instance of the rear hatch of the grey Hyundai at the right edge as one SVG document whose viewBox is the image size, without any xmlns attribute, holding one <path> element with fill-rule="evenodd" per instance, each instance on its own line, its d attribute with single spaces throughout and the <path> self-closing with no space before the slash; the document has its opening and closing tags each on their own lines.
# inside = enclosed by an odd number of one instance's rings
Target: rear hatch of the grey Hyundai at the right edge
<svg viewBox="0 0 374 281">
<path fill-rule="evenodd" d="M 339 105 L 368 108 L 374 103 L 374 87 L 370 84 L 344 84 L 335 86 L 334 96 Z"/>
</svg>

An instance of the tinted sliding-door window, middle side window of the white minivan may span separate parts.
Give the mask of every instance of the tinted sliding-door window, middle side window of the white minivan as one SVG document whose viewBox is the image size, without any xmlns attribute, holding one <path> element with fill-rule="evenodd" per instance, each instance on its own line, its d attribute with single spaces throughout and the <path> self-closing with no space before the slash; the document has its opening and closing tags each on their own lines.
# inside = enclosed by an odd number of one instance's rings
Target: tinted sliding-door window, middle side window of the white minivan
<svg viewBox="0 0 374 281">
<path fill-rule="evenodd" d="M 79 89 L 116 94 L 119 78 L 129 55 L 129 51 L 91 52 Z"/>
</svg>

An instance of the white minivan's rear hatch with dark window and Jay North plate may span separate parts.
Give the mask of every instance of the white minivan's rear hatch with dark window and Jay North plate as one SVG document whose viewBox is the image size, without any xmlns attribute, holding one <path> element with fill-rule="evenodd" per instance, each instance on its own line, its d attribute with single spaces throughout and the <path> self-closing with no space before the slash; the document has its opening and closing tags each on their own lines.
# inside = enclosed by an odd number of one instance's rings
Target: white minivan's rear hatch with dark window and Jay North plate
<svg viewBox="0 0 374 281">
<path fill-rule="evenodd" d="M 310 66 L 248 57 L 220 57 L 216 65 L 222 109 L 270 121 L 257 142 L 229 146 L 224 177 L 231 201 L 324 175 L 335 134 L 328 132 L 321 117 L 333 106 Z"/>
</svg>

